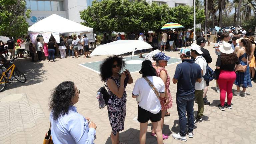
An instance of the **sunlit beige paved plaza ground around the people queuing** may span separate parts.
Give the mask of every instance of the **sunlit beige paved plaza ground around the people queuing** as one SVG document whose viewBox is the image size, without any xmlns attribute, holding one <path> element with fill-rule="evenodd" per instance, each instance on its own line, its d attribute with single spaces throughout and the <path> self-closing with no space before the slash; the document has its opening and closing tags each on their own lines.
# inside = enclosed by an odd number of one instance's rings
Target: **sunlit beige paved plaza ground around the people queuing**
<svg viewBox="0 0 256 144">
<path fill-rule="evenodd" d="M 210 51 L 215 69 L 216 55 L 213 43 L 205 48 Z M 179 59 L 179 52 L 165 52 L 168 56 Z M 14 61 L 16 66 L 26 74 L 27 82 L 17 81 L 8 84 L 0 93 L 0 144 L 40 144 L 44 134 L 49 129 L 50 121 L 48 101 L 51 90 L 63 81 L 73 81 L 80 90 L 79 102 L 75 105 L 77 111 L 84 117 L 90 117 L 96 123 L 95 144 L 110 144 L 111 127 L 107 108 L 99 109 L 96 99 L 97 90 L 103 86 L 99 74 L 79 64 L 101 61 L 107 56 L 94 56 L 83 59 L 67 57 L 57 58 L 56 62 L 30 62 L 23 58 Z M 181 62 L 181 60 L 180 60 Z M 166 67 L 172 78 L 178 63 Z M 95 67 L 97 65 L 95 64 Z M 139 72 L 131 74 L 134 83 L 142 75 Z M 139 143 L 139 123 L 137 122 L 137 102 L 132 99 L 133 84 L 127 86 L 127 105 L 124 130 L 120 132 L 120 141 L 128 144 Z M 194 128 L 194 138 L 187 142 L 175 140 L 172 133 L 179 131 L 178 112 L 176 106 L 176 84 L 170 84 L 173 97 L 173 107 L 165 117 L 163 132 L 170 135 L 165 144 L 255 144 L 256 143 L 256 84 L 248 88 L 247 96 L 233 96 L 232 109 L 221 111 L 219 93 L 215 92 L 216 82 L 211 81 L 207 98 L 210 105 L 204 106 L 203 123 L 197 123 Z M 233 86 L 233 91 L 236 89 Z M 197 104 L 194 105 L 197 112 Z M 156 144 L 156 137 L 150 135 L 151 122 L 148 124 L 147 144 Z"/>
</svg>

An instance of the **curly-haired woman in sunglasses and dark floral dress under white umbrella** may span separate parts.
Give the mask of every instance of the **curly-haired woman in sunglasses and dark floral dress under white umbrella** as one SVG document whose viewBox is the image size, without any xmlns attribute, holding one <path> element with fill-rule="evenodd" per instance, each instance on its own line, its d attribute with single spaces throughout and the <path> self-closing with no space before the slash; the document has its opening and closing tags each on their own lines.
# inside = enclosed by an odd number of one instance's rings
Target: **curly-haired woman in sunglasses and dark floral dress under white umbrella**
<svg viewBox="0 0 256 144">
<path fill-rule="evenodd" d="M 123 64 L 122 64 L 123 63 Z M 110 94 L 108 100 L 108 117 L 112 127 L 112 144 L 119 144 L 119 131 L 124 130 L 124 119 L 126 114 L 126 91 L 125 87 L 133 83 L 128 70 L 120 74 L 121 68 L 125 67 L 122 58 L 118 56 L 108 57 L 100 65 L 100 76 L 107 83 Z"/>
</svg>

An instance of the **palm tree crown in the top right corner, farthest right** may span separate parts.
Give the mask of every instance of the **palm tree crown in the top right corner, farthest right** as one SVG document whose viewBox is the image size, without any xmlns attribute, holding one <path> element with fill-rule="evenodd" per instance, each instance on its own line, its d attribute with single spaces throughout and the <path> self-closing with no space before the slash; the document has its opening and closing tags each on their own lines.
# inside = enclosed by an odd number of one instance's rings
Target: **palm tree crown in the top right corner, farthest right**
<svg viewBox="0 0 256 144">
<path fill-rule="evenodd" d="M 255 0 L 243 0 L 241 4 L 242 16 L 245 20 L 249 20 L 251 16 L 251 11 L 255 11 L 256 4 Z"/>
</svg>

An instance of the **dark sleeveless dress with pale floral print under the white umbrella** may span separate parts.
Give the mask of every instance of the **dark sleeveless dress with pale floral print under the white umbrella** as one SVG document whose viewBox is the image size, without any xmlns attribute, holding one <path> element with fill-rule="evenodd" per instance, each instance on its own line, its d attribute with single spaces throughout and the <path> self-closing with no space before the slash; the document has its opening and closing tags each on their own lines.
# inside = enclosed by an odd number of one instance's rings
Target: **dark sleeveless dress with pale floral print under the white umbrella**
<svg viewBox="0 0 256 144">
<path fill-rule="evenodd" d="M 116 82 L 116 85 L 120 87 L 120 79 L 116 79 L 113 77 L 110 77 L 108 79 L 114 80 Z M 124 87 L 126 86 L 127 82 L 124 83 Z M 110 91 L 108 86 L 107 89 L 108 93 L 110 94 L 110 98 L 108 100 L 108 117 L 110 125 L 112 127 L 112 133 L 113 135 L 116 135 L 119 131 L 124 130 L 124 119 L 126 114 L 126 91 L 124 90 L 122 98 L 118 98 Z"/>
</svg>

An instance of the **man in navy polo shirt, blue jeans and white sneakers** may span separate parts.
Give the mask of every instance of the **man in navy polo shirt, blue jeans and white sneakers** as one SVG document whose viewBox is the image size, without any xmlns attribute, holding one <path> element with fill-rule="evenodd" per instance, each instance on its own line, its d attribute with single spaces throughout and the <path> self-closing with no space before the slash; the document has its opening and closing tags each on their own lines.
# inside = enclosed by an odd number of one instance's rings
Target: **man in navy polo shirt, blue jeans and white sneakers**
<svg viewBox="0 0 256 144">
<path fill-rule="evenodd" d="M 188 48 L 180 50 L 180 58 L 182 63 L 178 64 L 173 76 L 172 82 L 177 82 L 176 103 L 179 115 L 180 132 L 172 134 L 172 137 L 182 141 L 187 141 L 188 137 L 193 138 L 194 128 L 194 99 L 195 99 L 195 83 L 202 81 L 201 68 L 198 64 L 190 59 L 191 52 Z M 186 131 L 186 111 L 188 115 L 188 130 Z"/>
</svg>

